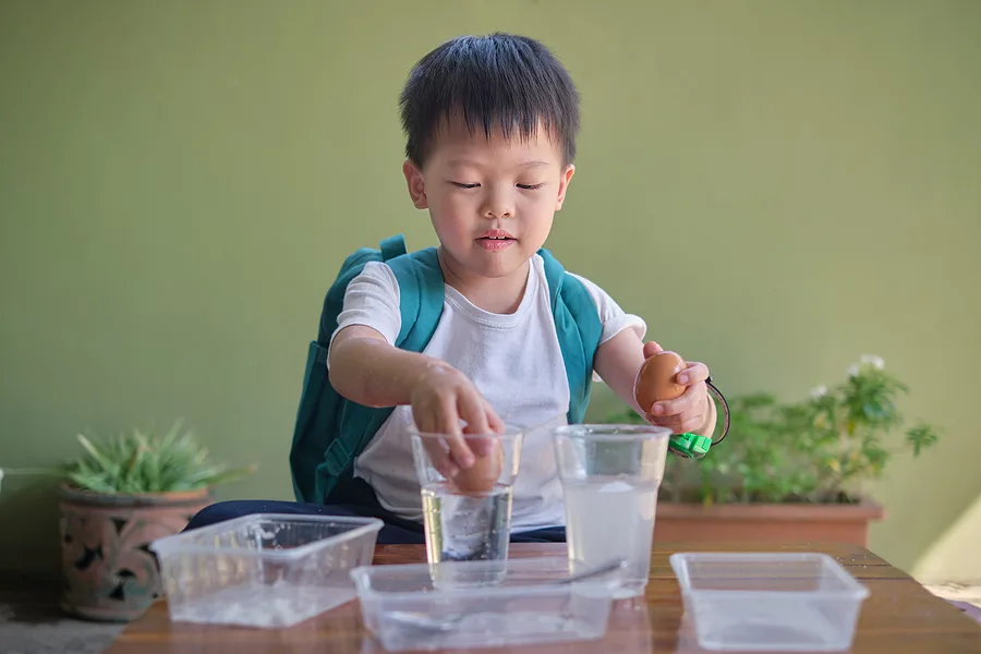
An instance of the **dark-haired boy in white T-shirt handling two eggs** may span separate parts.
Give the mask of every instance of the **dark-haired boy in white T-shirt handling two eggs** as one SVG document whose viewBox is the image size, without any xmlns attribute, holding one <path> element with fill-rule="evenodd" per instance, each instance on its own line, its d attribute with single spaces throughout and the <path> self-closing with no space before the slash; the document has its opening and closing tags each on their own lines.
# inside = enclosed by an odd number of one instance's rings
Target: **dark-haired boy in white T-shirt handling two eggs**
<svg viewBox="0 0 981 654">
<path fill-rule="evenodd" d="M 187 529 L 254 511 L 379 517 L 379 543 L 423 542 L 422 508 L 408 428 L 487 434 L 504 425 L 562 424 L 569 383 L 556 337 L 543 259 L 537 254 L 572 180 L 579 96 L 542 44 L 494 34 L 448 41 L 413 69 L 400 98 L 408 135 L 402 171 L 412 203 L 439 240 L 443 314 L 421 353 L 392 343 L 399 286 L 385 263 L 368 263 L 348 286 L 328 354 L 330 383 L 365 407 L 395 407 L 354 463 L 343 504 L 223 502 Z M 570 274 L 571 275 L 571 274 Z M 593 368 L 657 425 L 712 435 L 708 370 L 678 375 L 680 398 L 637 405 L 633 380 L 646 356 L 646 326 L 582 277 L 603 331 Z M 463 446 L 450 470 L 473 464 Z M 561 488 L 547 428 L 525 434 L 512 499 L 512 540 L 565 540 Z"/>
</svg>

